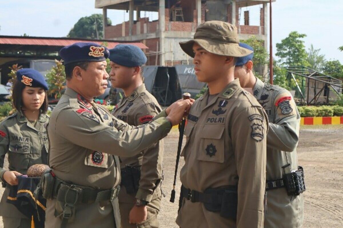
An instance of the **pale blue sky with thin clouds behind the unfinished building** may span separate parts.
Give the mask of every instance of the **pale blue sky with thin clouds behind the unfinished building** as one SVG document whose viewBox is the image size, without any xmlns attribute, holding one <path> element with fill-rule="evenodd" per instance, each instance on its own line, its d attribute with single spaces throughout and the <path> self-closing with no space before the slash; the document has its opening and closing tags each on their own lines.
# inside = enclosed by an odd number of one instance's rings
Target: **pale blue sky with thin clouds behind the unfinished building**
<svg viewBox="0 0 343 228">
<path fill-rule="evenodd" d="M 95 9 L 95 0 L 11 0 L 0 3 L 0 35 L 65 37 L 73 25 L 84 16 L 102 13 Z M 259 7 L 243 8 L 250 11 L 250 25 L 259 25 Z M 327 60 L 338 59 L 343 63 L 343 2 L 340 0 L 276 0 L 273 10 L 273 52 L 291 31 L 307 35 L 306 50 L 313 44 L 321 49 Z M 108 10 L 112 24 L 129 18 L 126 11 Z M 144 16 L 144 12 L 141 12 Z M 157 19 L 157 13 L 146 12 Z M 243 13 L 241 18 L 243 18 Z"/>
</svg>

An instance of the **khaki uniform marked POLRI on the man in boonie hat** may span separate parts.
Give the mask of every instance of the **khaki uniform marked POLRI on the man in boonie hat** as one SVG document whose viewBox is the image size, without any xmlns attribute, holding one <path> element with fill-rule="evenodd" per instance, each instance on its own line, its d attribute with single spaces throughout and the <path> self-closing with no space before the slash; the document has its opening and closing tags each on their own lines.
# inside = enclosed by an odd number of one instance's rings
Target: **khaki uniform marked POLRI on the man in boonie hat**
<svg viewBox="0 0 343 228">
<path fill-rule="evenodd" d="M 263 227 L 267 115 L 238 79 L 206 104 L 208 96 L 207 91 L 190 109 L 180 179 L 199 192 L 237 186 L 237 220 L 184 198 L 176 223 L 181 228 Z"/>
</svg>

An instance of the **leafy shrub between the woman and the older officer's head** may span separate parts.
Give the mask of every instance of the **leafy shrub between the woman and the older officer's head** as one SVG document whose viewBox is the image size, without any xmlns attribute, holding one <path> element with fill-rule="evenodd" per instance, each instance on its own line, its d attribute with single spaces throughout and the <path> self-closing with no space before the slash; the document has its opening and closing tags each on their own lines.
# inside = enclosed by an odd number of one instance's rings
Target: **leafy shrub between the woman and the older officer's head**
<svg viewBox="0 0 343 228">
<path fill-rule="evenodd" d="M 47 83 L 49 84 L 48 95 L 54 95 L 55 99 L 62 96 L 62 91 L 66 88 L 66 72 L 64 72 L 63 60 L 55 59 L 56 66 L 53 66 L 47 73 Z"/>
</svg>

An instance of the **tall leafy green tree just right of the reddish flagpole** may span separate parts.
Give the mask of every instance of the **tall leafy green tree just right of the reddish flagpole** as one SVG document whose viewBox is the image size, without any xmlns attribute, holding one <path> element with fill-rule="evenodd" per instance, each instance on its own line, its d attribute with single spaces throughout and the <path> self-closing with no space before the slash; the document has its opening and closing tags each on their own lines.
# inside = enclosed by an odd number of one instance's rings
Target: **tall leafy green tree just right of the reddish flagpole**
<svg viewBox="0 0 343 228">
<path fill-rule="evenodd" d="M 301 40 L 304 37 L 306 34 L 293 31 L 276 44 L 275 55 L 280 58 L 279 63 L 285 66 L 309 66 L 304 41 Z"/>
</svg>

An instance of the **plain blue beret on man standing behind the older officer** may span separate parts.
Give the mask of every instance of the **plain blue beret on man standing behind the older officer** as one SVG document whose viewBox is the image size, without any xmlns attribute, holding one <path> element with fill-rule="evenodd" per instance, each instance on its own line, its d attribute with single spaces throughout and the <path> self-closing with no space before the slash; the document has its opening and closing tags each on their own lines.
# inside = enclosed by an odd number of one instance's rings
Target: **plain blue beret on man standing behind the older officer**
<svg viewBox="0 0 343 228">
<path fill-rule="evenodd" d="M 144 52 L 137 46 L 130 44 L 118 44 L 109 50 L 109 60 L 126 67 L 142 66 L 147 59 Z"/>
</svg>

